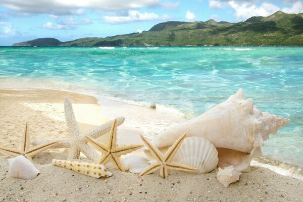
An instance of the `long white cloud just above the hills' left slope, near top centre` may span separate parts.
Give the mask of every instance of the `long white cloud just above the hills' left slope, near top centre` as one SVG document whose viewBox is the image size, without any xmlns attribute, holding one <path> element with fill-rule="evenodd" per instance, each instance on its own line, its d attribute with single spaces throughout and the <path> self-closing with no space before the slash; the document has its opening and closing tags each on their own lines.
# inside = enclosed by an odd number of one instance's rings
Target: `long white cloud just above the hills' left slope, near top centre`
<svg viewBox="0 0 303 202">
<path fill-rule="evenodd" d="M 111 24 L 123 24 L 136 21 L 150 21 L 150 20 L 167 20 L 168 15 L 159 16 L 155 13 L 140 13 L 139 11 L 129 10 L 127 15 L 103 16 L 103 20 Z"/>
</svg>

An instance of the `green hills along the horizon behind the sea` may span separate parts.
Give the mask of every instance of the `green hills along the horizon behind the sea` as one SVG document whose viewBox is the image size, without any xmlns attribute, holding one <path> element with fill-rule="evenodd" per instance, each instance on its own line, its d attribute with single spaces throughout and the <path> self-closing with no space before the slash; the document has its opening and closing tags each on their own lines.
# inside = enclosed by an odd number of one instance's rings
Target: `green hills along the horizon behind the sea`
<svg viewBox="0 0 303 202">
<path fill-rule="evenodd" d="M 50 38 L 46 38 L 49 41 Z M 46 40 L 45 39 L 45 40 Z M 14 45 L 40 45 L 36 40 Z M 41 39 L 40 39 L 41 40 Z M 57 39 L 56 39 L 57 40 Z M 303 13 L 278 11 L 267 17 L 251 17 L 244 22 L 164 22 L 142 33 L 105 38 L 80 38 L 60 42 L 60 46 L 181 46 L 181 45 L 303 45 Z M 43 43 L 47 44 L 47 43 Z M 47 44 L 47 45 L 55 45 Z M 56 46 L 56 45 L 55 45 Z"/>
</svg>

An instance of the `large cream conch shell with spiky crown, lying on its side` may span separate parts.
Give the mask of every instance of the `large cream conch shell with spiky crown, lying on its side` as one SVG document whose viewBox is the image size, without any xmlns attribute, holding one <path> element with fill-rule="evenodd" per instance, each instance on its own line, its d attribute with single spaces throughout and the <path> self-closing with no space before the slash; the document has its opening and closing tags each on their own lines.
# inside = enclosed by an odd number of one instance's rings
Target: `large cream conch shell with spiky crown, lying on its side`
<svg viewBox="0 0 303 202">
<path fill-rule="evenodd" d="M 219 167 L 233 165 L 239 172 L 250 170 L 250 160 L 260 147 L 289 119 L 260 111 L 251 99 L 244 99 L 239 89 L 225 102 L 208 112 L 171 127 L 156 136 L 152 144 L 158 148 L 171 146 L 183 133 L 203 137 L 218 150 Z"/>
</svg>

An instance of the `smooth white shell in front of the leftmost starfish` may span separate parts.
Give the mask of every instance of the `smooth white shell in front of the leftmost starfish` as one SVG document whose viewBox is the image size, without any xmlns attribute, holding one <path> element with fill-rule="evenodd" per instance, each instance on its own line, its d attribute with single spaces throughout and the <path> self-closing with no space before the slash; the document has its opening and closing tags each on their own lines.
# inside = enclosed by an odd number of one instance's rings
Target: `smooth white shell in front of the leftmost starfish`
<svg viewBox="0 0 303 202">
<path fill-rule="evenodd" d="M 9 176 L 24 180 L 32 180 L 40 173 L 39 170 L 24 156 L 9 159 Z"/>
</svg>

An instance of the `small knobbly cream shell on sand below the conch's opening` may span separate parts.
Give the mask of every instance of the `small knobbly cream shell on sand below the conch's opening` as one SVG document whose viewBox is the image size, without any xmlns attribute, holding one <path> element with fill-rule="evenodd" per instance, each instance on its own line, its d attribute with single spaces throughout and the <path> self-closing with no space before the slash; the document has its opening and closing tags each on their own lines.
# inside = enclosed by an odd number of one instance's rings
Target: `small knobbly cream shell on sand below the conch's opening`
<svg viewBox="0 0 303 202">
<path fill-rule="evenodd" d="M 241 173 L 237 172 L 233 166 L 229 166 L 225 169 L 219 168 L 217 173 L 217 180 L 221 182 L 225 187 L 228 187 L 229 184 L 239 180 Z"/>
</svg>

